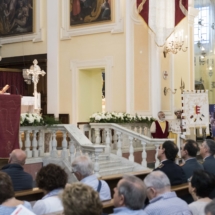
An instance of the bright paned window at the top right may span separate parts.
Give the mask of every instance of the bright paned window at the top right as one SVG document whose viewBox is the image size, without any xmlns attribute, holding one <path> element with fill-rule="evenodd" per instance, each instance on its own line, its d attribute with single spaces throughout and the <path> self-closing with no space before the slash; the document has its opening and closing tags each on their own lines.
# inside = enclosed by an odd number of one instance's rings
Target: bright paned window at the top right
<svg viewBox="0 0 215 215">
<path fill-rule="evenodd" d="M 194 42 L 209 43 L 209 6 L 199 7 L 194 21 Z"/>
</svg>

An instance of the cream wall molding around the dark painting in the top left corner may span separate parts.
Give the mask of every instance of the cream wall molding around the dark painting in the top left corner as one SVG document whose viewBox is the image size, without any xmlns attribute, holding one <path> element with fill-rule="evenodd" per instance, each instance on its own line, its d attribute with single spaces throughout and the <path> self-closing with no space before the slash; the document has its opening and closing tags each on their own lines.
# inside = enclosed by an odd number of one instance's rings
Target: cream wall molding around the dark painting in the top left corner
<svg viewBox="0 0 215 215">
<path fill-rule="evenodd" d="M 36 0 L 36 26 L 35 32 L 31 34 L 23 34 L 11 37 L 1 37 L 0 45 L 8 43 L 18 43 L 18 42 L 41 42 L 43 41 L 43 28 L 42 28 L 42 0 Z"/>
</svg>

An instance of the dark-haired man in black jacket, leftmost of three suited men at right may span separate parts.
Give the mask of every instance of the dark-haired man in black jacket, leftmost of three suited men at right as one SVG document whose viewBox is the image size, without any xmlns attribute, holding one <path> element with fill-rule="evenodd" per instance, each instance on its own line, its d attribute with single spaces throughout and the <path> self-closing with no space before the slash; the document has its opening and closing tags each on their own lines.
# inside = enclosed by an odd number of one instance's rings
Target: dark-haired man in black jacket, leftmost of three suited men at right
<svg viewBox="0 0 215 215">
<path fill-rule="evenodd" d="M 175 164 L 175 158 L 178 154 L 178 147 L 172 141 L 165 141 L 158 151 L 158 159 L 161 164 L 154 169 L 164 172 L 171 185 L 178 185 L 187 182 L 186 176 L 182 168 Z"/>
</svg>

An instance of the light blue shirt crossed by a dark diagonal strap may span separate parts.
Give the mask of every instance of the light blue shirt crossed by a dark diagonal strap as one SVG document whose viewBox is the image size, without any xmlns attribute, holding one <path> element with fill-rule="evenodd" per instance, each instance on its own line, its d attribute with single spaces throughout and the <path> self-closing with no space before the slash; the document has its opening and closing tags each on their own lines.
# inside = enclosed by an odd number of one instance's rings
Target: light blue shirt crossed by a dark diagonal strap
<svg viewBox="0 0 215 215">
<path fill-rule="evenodd" d="M 103 180 L 100 180 L 100 181 L 102 183 L 101 190 L 99 192 L 100 200 L 101 201 L 110 200 L 111 194 L 110 194 L 110 188 L 107 182 Z M 97 191 L 99 180 L 97 179 L 95 174 L 87 176 L 86 178 L 83 178 L 80 182 L 87 184 L 88 186 L 92 187 L 95 191 Z"/>
</svg>

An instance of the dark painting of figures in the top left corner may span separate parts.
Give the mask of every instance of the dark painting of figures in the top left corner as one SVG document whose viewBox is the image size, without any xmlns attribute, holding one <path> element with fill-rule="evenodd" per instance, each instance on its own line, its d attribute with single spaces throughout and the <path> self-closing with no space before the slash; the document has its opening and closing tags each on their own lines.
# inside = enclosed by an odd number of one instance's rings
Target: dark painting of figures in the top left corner
<svg viewBox="0 0 215 215">
<path fill-rule="evenodd" d="M 0 0 L 0 37 L 33 32 L 34 0 Z"/>
</svg>

